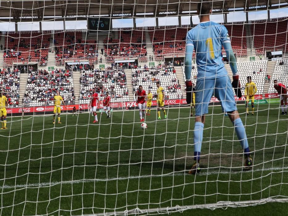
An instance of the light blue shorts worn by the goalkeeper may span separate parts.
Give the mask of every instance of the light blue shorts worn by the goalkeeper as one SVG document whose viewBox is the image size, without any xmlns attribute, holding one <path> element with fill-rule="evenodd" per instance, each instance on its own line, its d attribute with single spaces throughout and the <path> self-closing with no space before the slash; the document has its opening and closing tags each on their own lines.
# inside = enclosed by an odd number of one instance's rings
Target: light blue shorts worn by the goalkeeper
<svg viewBox="0 0 288 216">
<path fill-rule="evenodd" d="M 212 96 L 218 98 L 223 112 L 237 110 L 233 87 L 228 76 L 215 79 L 198 80 L 195 96 L 195 116 L 208 113 L 208 105 Z"/>
</svg>

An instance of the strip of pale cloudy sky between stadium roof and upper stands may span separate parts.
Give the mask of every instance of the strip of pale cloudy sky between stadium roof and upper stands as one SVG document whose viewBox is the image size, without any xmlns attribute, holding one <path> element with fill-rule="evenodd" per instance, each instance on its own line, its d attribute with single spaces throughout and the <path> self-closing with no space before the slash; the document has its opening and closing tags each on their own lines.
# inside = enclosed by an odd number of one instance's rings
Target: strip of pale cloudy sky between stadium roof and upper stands
<svg viewBox="0 0 288 216">
<path fill-rule="evenodd" d="M 270 18 L 286 17 L 288 14 L 288 8 L 282 8 L 277 10 L 270 10 Z M 256 11 L 249 12 L 249 20 L 258 20 L 258 19 L 267 19 L 267 11 Z M 227 14 L 228 22 L 240 22 L 246 20 L 246 14 L 244 12 L 230 12 Z M 223 15 L 211 15 L 211 20 L 217 23 L 223 23 Z M 178 17 L 161 17 L 158 19 L 159 26 L 165 25 L 178 25 Z M 192 21 L 194 24 L 199 23 L 198 16 L 192 16 Z M 190 16 L 182 16 L 181 24 L 187 25 L 190 24 Z M 66 30 L 73 29 L 87 29 L 86 20 L 77 20 L 77 21 L 65 21 Z M 120 27 L 133 27 L 133 19 L 113 19 L 112 20 L 113 28 Z M 136 27 L 145 27 L 145 26 L 156 26 L 155 18 L 139 18 L 136 19 Z M 0 28 L 2 31 L 15 31 L 15 23 L 1 22 Z M 42 23 L 42 30 L 63 30 L 63 21 L 45 21 Z M 18 31 L 37 31 L 39 30 L 39 22 L 27 23 L 21 22 L 18 23 Z"/>
</svg>

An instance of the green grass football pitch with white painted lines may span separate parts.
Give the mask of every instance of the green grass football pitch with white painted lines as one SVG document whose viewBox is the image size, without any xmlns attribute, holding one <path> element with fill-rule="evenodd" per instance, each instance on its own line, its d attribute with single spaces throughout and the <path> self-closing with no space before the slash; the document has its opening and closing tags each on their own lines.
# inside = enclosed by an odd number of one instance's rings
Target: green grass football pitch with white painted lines
<svg viewBox="0 0 288 216">
<path fill-rule="evenodd" d="M 229 118 L 219 106 L 210 107 L 196 176 L 186 174 L 195 121 L 189 110 L 166 109 L 167 120 L 162 111 L 156 120 L 152 110 L 145 131 L 138 110 L 113 112 L 111 119 L 103 114 L 95 124 L 88 113 L 62 113 L 62 124 L 55 125 L 52 115 L 7 118 L 8 130 L 0 131 L 0 215 L 81 215 L 288 196 L 288 116 L 279 115 L 278 104 L 256 106 L 247 118 L 241 114 L 253 151 L 250 172 L 242 172 L 242 149 Z M 183 214 L 255 215 L 285 206 Z"/>
</svg>

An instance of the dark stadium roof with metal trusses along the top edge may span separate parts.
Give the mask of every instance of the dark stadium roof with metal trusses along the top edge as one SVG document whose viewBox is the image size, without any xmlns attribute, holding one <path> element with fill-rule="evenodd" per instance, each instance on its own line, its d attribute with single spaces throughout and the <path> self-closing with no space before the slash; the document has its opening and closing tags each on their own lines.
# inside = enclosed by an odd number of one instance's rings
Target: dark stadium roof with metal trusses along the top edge
<svg viewBox="0 0 288 216">
<path fill-rule="evenodd" d="M 195 15 L 201 0 L 2 0 L 1 21 L 23 22 L 86 19 L 87 16 L 163 17 Z M 288 7 L 288 0 L 213 0 L 214 13 L 273 10 Z"/>
</svg>

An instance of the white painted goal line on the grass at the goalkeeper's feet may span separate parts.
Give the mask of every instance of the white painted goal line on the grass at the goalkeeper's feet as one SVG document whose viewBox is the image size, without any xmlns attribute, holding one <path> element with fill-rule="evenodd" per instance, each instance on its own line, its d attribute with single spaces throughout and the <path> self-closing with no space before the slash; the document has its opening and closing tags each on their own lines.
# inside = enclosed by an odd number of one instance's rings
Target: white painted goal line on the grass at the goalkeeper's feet
<svg viewBox="0 0 288 216">
<path fill-rule="evenodd" d="M 217 168 L 218 169 L 218 168 Z M 249 172 L 263 172 L 263 171 L 285 171 L 288 172 L 288 167 L 273 167 L 273 168 L 263 168 L 263 169 L 253 169 L 248 171 L 208 171 L 200 172 L 197 176 L 209 176 L 209 175 L 218 175 L 218 174 L 240 174 L 240 173 L 249 173 Z M 271 172 L 274 173 L 274 172 Z M 82 180 L 72 180 L 72 181 L 52 181 L 52 182 L 41 182 L 41 183 L 31 183 L 31 184 L 21 184 L 21 185 L 4 185 L 0 186 L 0 189 L 17 189 L 17 188 L 39 188 L 39 187 L 50 187 L 55 185 L 69 185 L 69 184 L 83 184 L 89 182 L 106 182 L 106 181 L 122 181 L 122 180 L 131 180 L 131 179 L 143 179 L 143 178 L 157 178 L 157 177 L 175 177 L 175 176 L 191 176 L 188 173 L 176 172 L 174 174 L 163 174 L 163 175 L 142 175 L 142 176 L 130 176 L 130 177 L 118 177 L 118 178 L 103 178 L 103 179 L 82 179 Z"/>
</svg>

